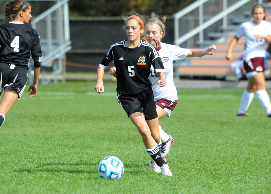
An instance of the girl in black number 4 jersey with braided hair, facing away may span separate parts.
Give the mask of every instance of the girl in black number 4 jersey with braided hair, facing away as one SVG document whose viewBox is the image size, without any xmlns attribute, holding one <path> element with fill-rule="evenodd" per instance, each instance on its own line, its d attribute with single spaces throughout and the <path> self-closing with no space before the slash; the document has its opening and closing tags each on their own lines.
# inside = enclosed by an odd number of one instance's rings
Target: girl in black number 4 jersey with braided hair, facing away
<svg viewBox="0 0 271 194">
<path fill-rule="evenodd" d="M 0 25 L 0 126 L 25 89 L 30 55 L 34 60 L 34 82 L 28 89 L 32 90 L 29 97 L 37 94 L 42 57 L 39 33 L 25 25 L 32 17 L 31 6 L 23 0 L 9 2 L 5 17 L 6 23 Z"/>
</svg>

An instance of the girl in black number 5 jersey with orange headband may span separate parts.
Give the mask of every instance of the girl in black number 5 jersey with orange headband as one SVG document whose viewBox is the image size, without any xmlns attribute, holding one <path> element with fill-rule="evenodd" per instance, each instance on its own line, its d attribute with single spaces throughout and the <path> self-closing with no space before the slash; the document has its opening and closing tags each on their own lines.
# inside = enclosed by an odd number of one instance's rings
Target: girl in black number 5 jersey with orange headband
<svg viewBox="0 0 271 194">
<path fill-rule="evenodd" d="M 143 17 L 135 14 L 123 18 L 128 40 L 110 47 L 98 67 L 95 89 L 97 93 L 104 92 L 104 69 L 114 60 L 118 71 L 117 99 L 141 134 L 148 154 L 161 167 L 162 175 L 172 176 L 159 151 L 159 124 L 152 84 L 148 79 L 150 67 L 153 65 L 159 76 L 157 84 L 161 87 L 166 85 L 163 63 L 154 47 L 145 41 Z"/>
</svg>

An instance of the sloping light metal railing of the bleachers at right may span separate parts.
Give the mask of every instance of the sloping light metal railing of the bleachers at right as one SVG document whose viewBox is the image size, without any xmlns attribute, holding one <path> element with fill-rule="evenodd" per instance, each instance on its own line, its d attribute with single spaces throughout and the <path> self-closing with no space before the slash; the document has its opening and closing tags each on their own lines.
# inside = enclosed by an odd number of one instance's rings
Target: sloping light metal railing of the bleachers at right
<svg viewBox="0 0 271 194">
<path fill-rule="evenodd" d="M 199 42 L 203 42 L 203 30 L 207 27 L 211 26 L 215 22 L 223 19 L 223 27 L 227 26 L 227 15 L 229 13 L 232 13 L 236 9 L 242 7 L 246 3 L 252 1 L 252 0 L 239 0 L 236 3 L 234 3 L 231 6 L 227 6 L 227 0 L 223 0 L 223 11 L 221 11 L 219 14 L 213 16 L 211 19 L 203 22 L 204 13 L 203 13 L 203 4 L 208 2 L 210 0 L 198 0 L 192 3 L 191 5 L 185 7 L 181 11 L 175 13 L 173 15 L 174 17 L 174 37 L 175 37 L 175 45 L 180 45 L 181 43 L 187 41 L 189 38 L 193 37 L 194 35 L 199 33 Z M 221 0 L 217 0 L 221 1 Z M 263 3 L 263 0 L 258 0 L 258 3 Z M 179 19 L 181 19 L 183 16 L 191 13 L 191 11 L 194 11 L 195 9 L 199 8 L 199 26 L 194 28 L 193 30 L 185 33 L 184 35 L 180 36 L 179 31 Z"/>
</svg>

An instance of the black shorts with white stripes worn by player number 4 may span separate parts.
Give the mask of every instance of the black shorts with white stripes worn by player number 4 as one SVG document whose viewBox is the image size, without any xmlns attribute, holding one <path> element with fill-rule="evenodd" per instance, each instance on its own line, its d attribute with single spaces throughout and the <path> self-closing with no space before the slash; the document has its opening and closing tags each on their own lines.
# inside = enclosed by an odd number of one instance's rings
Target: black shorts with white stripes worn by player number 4
<svg viewBox="0 0 271 194">
<path fill-rule="evenodd" d="M 27 67 L 0 63 L 0 92 L 7 87 L 11 90 L 15 89 L 22 96 L 27 83 Z"/>
</svg>

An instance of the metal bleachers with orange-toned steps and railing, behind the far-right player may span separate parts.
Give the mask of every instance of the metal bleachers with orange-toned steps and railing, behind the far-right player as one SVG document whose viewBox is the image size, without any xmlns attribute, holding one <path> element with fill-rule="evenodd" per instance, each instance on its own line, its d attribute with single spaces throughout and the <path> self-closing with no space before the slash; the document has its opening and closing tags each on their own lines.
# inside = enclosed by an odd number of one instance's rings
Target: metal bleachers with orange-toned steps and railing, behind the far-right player
<svg viewBox="0 0 271 194">
<path fill-rule="evenodd" d="M 217 0 L 222 1 L 222 0 Z M 174 63 L 175 75 L 176 77 L 181 76 L 215 76 L 215 77 L 227 77 L 229 75 L 234 75 L 230 65 L 238 60 L 238 57 L 245 48 L 244 37 L 241 37 L 234 47 L 232 54 L 233 60 L 227 61 L 225 55 L 228 49 L 228 45 L 231 39 L 234 37 L 238 27 L 242 22 L 251 21 L 250 9 L 238 11 L 239 8 L 246 5 L 252 7 L 254 3 L 262 3 L 266 8 L 266 20 L 271 21 L 271 6 L 267 3 L 259 1 L 250 0 L 240 0 L 234 2 L 232 5 L 227 6 L 227 0 L 223 0 L 223 10 L 213 17 L 207 18 L 205 21 L 201 19 L 203 17 L 203 4 L 208 2 L 208 0 L 198 0 L 194 2 L 192 6 L 187 7 L 188 11 L 185 9 L 181 10 L 180 13 L 176 13 L 175 17 L 175 45 L 191 48 L 202 48 L 207 49 L 208 46 L 215 44 L 217 51 L 212 56 L 205 55 L 203 57 L 197 58 L 185 58 L 183 61 L 177 61 Z M 199 9 L 199 22 L 198 26 L 188 31 L 187 33 L 179 36 L 179 25 L 181 24 L 181 18 L 184 14 L 189 14 L 189 9 Z M 206 6 L 207 7 L 207 6 Z M 237 11 L 236 11 L 237 10 Z M 248 11 L 249 10 L 249 11 Z M 236 15 L 236 13 L 239 13 Z M 242 13 L 242 14 L 240 14 Z M 202 14 L 202 15 L 201 15 Z M 203 17 L 205 18 L 205 17 Z M 202 21 L 200 21 L 202 20 Z M 217 25 L 216 25 L 217 24 Z M 216 26 L 216 31 L 208 30 L 210 26 Z M 214 28 L 213 28 L 214 29 Z M 270 64 L 270 63 L 269 63 Z"/>
</svg>

